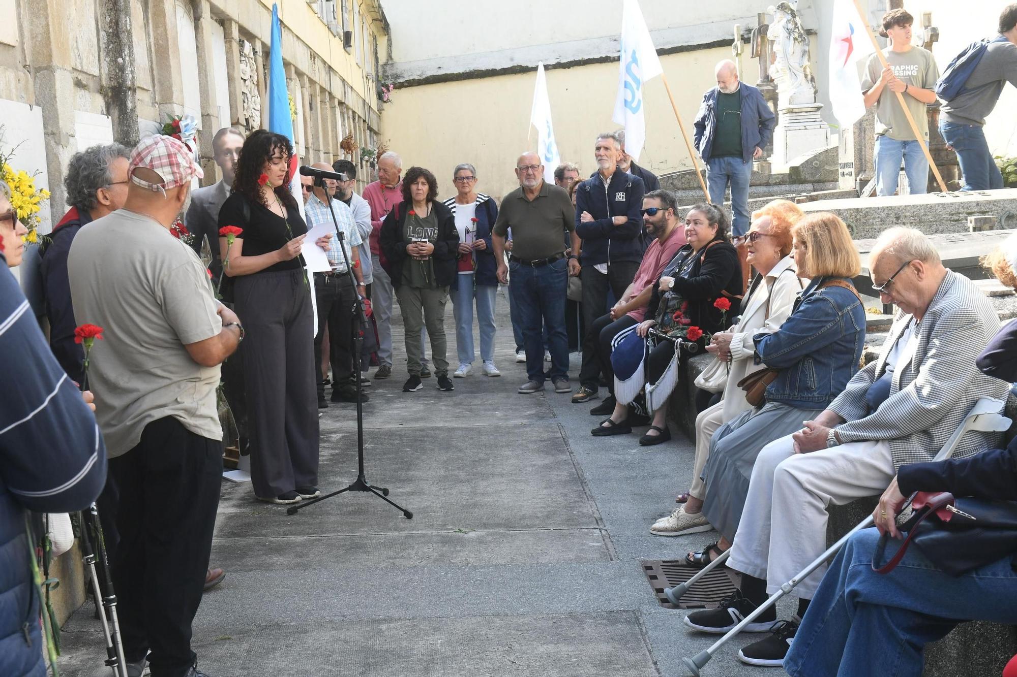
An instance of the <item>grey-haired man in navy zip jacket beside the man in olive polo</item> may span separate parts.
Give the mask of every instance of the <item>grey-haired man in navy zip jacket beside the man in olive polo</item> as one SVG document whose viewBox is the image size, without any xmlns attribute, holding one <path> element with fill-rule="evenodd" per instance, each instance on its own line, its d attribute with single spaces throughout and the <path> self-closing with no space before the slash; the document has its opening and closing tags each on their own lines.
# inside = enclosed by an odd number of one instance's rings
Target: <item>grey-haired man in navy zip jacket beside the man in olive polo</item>
<svg viewBox="0 0 1017 677">
<path fill-rule="evenodd" d="M 583 367 L 574 403 L 597 397 L 600 366 L 594 320 L 607 312 L 607 289 L 620 299 L 643 260 L 643 180 L 618 169 L 621 144 L 613 133 L 597 137 L 597 173 L 576 189 L 576 233 L 583 239 Z"/>
</svg>

